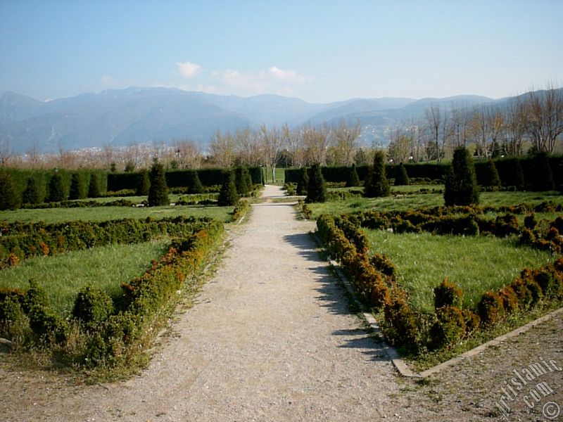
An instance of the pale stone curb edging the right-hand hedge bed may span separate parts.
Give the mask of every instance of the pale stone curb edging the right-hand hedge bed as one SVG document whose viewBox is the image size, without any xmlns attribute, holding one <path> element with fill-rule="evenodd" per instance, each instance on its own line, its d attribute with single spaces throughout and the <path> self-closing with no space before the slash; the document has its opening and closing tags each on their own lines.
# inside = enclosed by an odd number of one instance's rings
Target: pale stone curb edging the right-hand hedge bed
<svg viewBox="0 0 563 422">
<path fill-rule="evenodd" d="M 318 239 L 317 239 L 317 241 L 318 241 Z M 389 357 L 389 359 L 391 360 L 391 362 L 393 363 L 393 366 L 396 367 L 397 371 L 400 373 L 401 376 L 405 376 L 405 377 L 409 377 L 409 378 L 427 378 L 431 375 L 434 375 L 435 373 L 438 373 L 439 371 L 442 371 L 445 368 L 448 368 L 448 367 L 453 366 L 455 364 L 459 364 L 460 362 L 464 361 L 464 359 L 468 359 L 469 357 L 473 357 L 476 354 L 483 352 L 488 347 L 499 345 L 500 343 L 504 342 L 505 340 L 516 337 L 519 334 L 525 333 L 530 328 L 533 328 L 533 327 L 535 327 L 539 324 L 542 324 L 543 322 L 548 321 L 549 319 L 552 319 L 554 316 L 557 316 L 557 315 L 563 313 L 563 307 L 556 309 L 555 311 L 552 311 L 547 315 L 541 316 L 538 319 L 534 319 L 533 321 L 530 321 L 528 324 L 525 324 L 525 325 L 523 325 L 519 328 L 516 328 L 513 331 L 510 331 L 510 333 L 506 333 L 506 334 L 498 336 L 497 338 L 493 338 L 493 340 L 489 340 L 488 342 L 483 343 L 482 345 L 479 345 L 472 350 L 468 350 L 467 352 L 464 352 L 464 353 L 460 354 L 459 356 L 453 357 L 452 359 L 449 359 L 445 362 L 442 362 L 441 364 L 438 364 L 438 365 L 433 366 L 429 369 L 426 369 L 425 371 L 415 372 L 415 371 L 412 371 L 412 369 L 410 369 L 409 366 L 407 366 L 406 362 L 403 359 L 400 359 L 399 354 L 398 354 L 395 347 L 392 347 L 392 346 L 388 345 L 387 343 L 385 343 L 385 341 L 383 340 L 383 335 L 381 333 L 381 328 L 379 328 L 379 324 L 377 324 L 377 321 L 374 318 L 373 314 L 371 312 L 369 312 L 367 309 L 365 309 L 365 306 L 362 305 L 362 303 L 360 303 L 360 301 L 358 300 L 358 297 L 355 294 L 355 291 L 353 290 L 352 286 L 350 286 L 350 281 L 348 280 L 348 277 L 346 277 L 346 275 L 343 274 L 343 271 L 340 267 L 340 264 L 338 262 L 334 261 L 334 260 L 330 260 L 329 264 L 334 269 L 336 274 L 339 276 L 339 279 L 341 279 L 344 286 L 346 286 L 346 290 L 348 290 L 348 293 L 350 293 L 350 296 L 353 298 L 355 304 L 358 305 L 358 307 L 360 307 L 360 309 L 362 311 L 362 316 L 365 319 L 365 321 L 367 322 L 367 324 L 369 324 L 369 326 L 372 328 L 374 333 L 379 334 L 379 336 L 381 337 L 382 341 L 384 342 L 383 343 L 384 344 L 384 350 L 385 350 L 387 356 Z"/>
</svg>

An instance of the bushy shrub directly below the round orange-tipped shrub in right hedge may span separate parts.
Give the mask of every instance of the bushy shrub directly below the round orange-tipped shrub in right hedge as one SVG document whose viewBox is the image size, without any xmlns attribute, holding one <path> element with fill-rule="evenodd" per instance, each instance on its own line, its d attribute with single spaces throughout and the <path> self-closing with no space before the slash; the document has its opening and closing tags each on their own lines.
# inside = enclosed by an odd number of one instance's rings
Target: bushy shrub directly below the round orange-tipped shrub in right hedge
<svg viewBox="0 0 563 422">
<path fill-rule="evenodd" d="M 464 338 L 467 332 L 462 310 L 453 306 L 436 309 L 436 321 L 429 331 L 429 349 L 455 345 Z"/>
</svg>

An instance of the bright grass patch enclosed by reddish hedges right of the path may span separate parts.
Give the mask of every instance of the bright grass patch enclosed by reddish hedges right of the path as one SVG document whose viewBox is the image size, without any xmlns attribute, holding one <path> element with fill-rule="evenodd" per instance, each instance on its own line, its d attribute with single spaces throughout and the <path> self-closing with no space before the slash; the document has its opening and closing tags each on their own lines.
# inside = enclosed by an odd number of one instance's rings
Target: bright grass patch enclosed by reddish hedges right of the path
<svg viewBox="0 0 563 422">
<path fill-rule="evenodd" d="M 445 277 L 462 288 L 464 306 L 474 308 L 486 290 L 502 288 L 524 267 L 553 259 L 550 252 L 517 245 L 516 238 L 365 233 L 370 250 L 388 255 L 396 265 L 411 305 L 428 312 L 434 309 L 432 289 Z"/>
</svg>

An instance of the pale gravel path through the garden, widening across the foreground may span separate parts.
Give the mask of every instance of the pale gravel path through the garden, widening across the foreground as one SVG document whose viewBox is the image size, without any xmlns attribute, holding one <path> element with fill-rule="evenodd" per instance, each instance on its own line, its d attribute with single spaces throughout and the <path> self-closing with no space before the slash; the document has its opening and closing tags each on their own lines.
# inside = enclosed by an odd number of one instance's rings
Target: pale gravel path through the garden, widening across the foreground
<svg viewBox="0 0 563 422">
<path fill-rule="evenodd" d="M 3 421 L 482 421 L 512 369 L 563 364 L 561 318 L 431 381 L 400 378 L 362 330 L 293 207 L 271 199 L 232 229 L 231 247 L 198 303 L 129 381 L 77 385 L 0 366 Z M 1 360 L 1 359 L 0 359 Z M 561 374 L 545 376 L 561 402 Z M 524 393 L 523 393 L 524 394 Z M 514 420 L 541 420 L 521 399 Z"/>
</svg>

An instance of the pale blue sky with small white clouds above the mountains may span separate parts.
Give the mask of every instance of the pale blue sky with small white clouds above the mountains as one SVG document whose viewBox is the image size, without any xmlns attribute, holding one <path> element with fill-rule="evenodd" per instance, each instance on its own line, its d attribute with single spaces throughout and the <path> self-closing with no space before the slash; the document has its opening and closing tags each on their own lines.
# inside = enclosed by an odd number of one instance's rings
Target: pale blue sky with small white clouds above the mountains
<svg viewBox="0 0 563 422">
<path fill-rule="evenodd" d="M 563 0 L 0 0 L 0 91 L 502 98 L 563 86 Z"/>
</svg>

